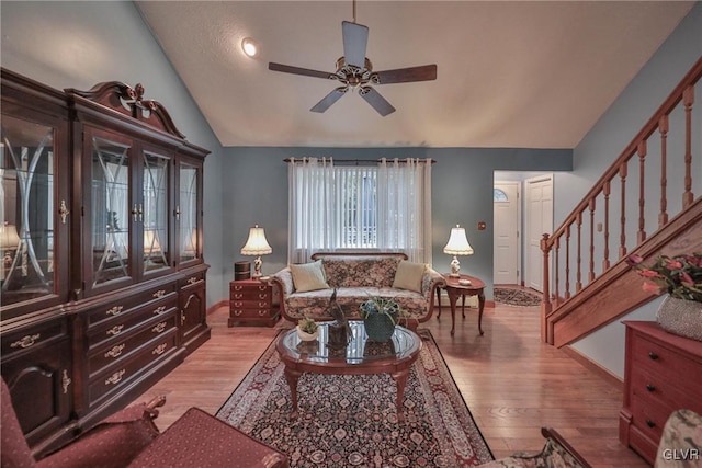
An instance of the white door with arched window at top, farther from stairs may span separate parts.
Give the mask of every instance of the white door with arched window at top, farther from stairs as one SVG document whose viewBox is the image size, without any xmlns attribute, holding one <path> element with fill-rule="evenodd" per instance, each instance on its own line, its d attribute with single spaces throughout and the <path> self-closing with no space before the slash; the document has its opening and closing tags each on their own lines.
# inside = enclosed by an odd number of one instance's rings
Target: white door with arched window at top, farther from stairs
<svg viewBox="0 0 702 468">
<path fill-rule="evenodd" d="M 492 198 L 492 282 L 495 284 L 520 283 L 519 187 L 519 182 L 495 182 Z"/>
</svg>

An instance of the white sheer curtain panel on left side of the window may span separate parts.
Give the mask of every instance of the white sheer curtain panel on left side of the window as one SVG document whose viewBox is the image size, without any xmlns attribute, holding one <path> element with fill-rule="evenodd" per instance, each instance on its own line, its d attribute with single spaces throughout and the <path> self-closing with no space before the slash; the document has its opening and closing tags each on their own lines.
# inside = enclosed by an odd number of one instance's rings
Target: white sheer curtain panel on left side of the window
<svg viewBox="0 0 702 468">
<path fill-rule="evenodd" d="M 332 250 L 336 224 L 331 158 L 291 158 L 288 165 L 287 262 L 304 263 L 319 250 Z"/>
</svg>

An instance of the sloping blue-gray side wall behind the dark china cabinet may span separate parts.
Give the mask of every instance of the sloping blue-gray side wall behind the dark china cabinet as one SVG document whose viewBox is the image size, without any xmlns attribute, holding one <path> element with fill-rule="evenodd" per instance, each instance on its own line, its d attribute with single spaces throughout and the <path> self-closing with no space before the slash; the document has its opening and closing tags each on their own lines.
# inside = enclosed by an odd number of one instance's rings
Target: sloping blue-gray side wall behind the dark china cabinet
<svg viewBox="0 0 702 468">
<path fill-rule="evenodd" d="M 190 141 L 212 153 L 205 161 L 205 261 L 207 303 L 227 296 L 222 258 L 222 146 L 127 1 L 0 2 L 2 67 L 56 89 L 88 90 L 102 81 L 143 83 L 145 98 L 168 109 Z"/>
</svg>

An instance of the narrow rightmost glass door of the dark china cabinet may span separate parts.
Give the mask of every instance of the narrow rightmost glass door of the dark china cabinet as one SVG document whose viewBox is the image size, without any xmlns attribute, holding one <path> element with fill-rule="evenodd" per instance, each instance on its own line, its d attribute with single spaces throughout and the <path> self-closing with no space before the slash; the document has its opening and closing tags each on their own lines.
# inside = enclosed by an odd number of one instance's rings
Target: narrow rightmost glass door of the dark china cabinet
<svg viewBox="0 0 702 468">
<path fill-rule="evenodd" d="M 197 229 L 199 184 L 200 168 L 181 162 L 179 165 L 179 206 L 177 208 L 180 263 L 200 258 L 200 230 Z"/>
</svg>

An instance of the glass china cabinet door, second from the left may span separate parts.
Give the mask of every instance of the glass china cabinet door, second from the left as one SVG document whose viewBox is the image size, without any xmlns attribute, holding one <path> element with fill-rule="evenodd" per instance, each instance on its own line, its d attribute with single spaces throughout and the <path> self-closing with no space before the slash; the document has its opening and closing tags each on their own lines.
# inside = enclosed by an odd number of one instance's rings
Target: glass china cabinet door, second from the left
<svg viewBox="0 0 702 468">
<path fill-rule="evenodd" d="M 131 273 L 129 149 L 124 141 L 92 137 L 91 240 L 92 287 Z M 135 207 L 136 208 L 136 207 Z"/>
</svg>

